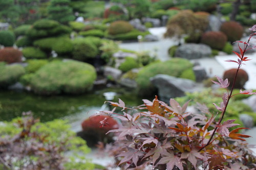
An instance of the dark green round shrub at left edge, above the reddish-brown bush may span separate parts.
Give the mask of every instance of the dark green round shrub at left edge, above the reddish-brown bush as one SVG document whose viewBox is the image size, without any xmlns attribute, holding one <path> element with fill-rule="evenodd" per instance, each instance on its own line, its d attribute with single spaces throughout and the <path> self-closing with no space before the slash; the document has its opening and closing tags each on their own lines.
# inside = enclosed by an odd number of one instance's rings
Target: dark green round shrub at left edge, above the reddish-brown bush
<svg viewBox="0 0 256 170">
<path fill-rule="evenodd" d="M 15 35 L 11 31 L 0 31 L 0 45 L 13 46 L 15 42 Z"/>
</svg>

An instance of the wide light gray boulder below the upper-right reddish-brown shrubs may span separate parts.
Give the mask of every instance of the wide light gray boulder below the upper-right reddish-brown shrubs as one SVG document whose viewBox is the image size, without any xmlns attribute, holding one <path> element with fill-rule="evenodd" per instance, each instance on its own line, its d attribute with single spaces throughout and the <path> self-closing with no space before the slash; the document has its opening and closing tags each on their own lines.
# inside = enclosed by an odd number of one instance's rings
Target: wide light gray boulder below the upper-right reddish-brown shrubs
<svg viewBox="0 0 256 170">
<path fill-rule="evenodd" d="M 210 57 L 211 48 L 205 44 L 186 43 L 179 46 L 175 52 L 175 57 L 185 59 L 198 59 Z"/>
</svg>

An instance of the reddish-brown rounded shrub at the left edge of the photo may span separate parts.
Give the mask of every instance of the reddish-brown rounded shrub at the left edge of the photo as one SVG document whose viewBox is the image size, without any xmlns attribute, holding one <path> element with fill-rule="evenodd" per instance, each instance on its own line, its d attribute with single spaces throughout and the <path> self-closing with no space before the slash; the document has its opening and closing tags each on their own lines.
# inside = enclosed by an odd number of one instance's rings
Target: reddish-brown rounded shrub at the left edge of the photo
<svg viewBox="0 0 256 170">
<path fill-rule="evenodd" d="M 22 52 L 13 48 L 13 47 L 5 47 L 0 50 L 0 62 L 4 61 L 8 64 L 21 62 L 22 61 Z"/>
</svg>

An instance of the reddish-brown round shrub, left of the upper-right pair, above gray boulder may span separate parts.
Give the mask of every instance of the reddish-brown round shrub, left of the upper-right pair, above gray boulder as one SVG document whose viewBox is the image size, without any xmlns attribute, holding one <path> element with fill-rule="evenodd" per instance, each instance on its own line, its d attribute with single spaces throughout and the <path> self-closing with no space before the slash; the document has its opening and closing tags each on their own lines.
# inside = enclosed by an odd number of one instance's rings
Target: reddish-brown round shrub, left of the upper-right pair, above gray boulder
<svg viewBox="0 0 256 170">
<path fill-rule="evenodd" d="M 201 43 L 216 50 L 222 50 L 227 42 L 227 36 L 222 32 L 209 31 L 202 35 Z"/>
</svg>

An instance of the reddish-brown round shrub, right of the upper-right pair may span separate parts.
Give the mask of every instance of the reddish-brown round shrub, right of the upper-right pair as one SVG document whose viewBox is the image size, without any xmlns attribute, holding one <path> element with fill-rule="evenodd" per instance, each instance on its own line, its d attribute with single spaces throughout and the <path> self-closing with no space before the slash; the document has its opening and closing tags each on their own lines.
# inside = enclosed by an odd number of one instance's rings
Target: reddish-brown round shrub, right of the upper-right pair
<svg viewBox="0 0 256 170">
<path fill-rule="evenodd" d="M 231 43 L 240 40 L 244 33 L 243 27 L 236 21 L 224 22 L 221 25 L 220 31 L 227 36 L 227 40 Z"/>
</svg>

